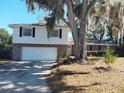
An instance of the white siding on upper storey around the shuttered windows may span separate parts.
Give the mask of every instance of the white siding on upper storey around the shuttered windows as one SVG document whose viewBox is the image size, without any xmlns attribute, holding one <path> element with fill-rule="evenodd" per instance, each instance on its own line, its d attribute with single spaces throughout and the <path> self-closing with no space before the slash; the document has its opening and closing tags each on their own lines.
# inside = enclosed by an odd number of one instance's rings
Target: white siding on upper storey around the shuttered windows
<svg viewBox="0 0 124 93">
<path fill-rule="evenodd" d="M 56 29 L 62 29 L 62 38 L 50 37 L 47 38 L 47 30 L 45 26 L 35 27 L 35 37 L 19 37 L 19 27 L 13 28 L 13 43 L 23 44 L 67 44 L 68 43 L 68 32 L 67 27 L 56 27 Z"/>
</svg>

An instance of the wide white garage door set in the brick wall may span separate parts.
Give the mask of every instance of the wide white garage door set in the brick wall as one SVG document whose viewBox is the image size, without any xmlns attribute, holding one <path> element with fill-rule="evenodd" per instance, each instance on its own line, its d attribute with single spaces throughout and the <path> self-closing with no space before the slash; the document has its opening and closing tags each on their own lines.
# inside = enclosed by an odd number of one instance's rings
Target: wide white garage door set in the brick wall
<svg viewBox="0 0 124 93">
<path fill-rule="evenodd" d="M 22 47 L 22 60 L 57 60 L 57 48 Z"/>
</svg>

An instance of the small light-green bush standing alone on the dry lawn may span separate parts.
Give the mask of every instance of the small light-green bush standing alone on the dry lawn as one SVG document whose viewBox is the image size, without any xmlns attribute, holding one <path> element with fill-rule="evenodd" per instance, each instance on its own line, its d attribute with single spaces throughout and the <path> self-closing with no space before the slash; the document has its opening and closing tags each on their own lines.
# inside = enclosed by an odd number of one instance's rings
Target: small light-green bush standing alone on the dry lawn
<svg viewBox="0 0 124 93">
<path fill-rule="evenodd" d="M 111 67 L 111 64 L 115 62 L 117 55 L 114 54 L 113 50 L 107 49 L 103 54 L 104 62 L 108 67 Z"/>
</svg>

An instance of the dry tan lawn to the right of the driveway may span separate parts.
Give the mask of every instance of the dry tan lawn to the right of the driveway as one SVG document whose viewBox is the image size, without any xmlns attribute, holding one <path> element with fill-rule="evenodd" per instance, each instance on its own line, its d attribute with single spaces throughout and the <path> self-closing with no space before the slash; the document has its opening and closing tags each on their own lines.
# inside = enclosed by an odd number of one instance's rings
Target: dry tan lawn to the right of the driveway
<svg viewBox="0 0 124 93">
<path fill-rule="evenodd" d="M 101 59 L 95 64 L 61 65 L 53 69 L 48 83 L 53 93 L 124 93 L 124 58 L 110 71 Z"/>
</svg>

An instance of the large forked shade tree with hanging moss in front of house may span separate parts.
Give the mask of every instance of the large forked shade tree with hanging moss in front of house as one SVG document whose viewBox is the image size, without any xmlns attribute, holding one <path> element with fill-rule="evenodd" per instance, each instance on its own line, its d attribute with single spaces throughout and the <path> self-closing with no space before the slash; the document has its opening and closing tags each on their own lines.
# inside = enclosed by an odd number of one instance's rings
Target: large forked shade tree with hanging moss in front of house
<svg viewBox="0 0 124 93">
<path fill-rule="evenodd" d="M 48 31 L 55 26 L 56 20 L 63 20 L 71 29 L 75 44 L 75 58 L 85 60 L 86 31 L 88 15 L 91 14 L 96 2 L 104 0 L 26 0 L 28 9 L 45 9 L 49 15 L 45 17 Z"/>
</svg>

